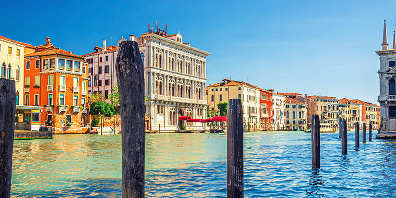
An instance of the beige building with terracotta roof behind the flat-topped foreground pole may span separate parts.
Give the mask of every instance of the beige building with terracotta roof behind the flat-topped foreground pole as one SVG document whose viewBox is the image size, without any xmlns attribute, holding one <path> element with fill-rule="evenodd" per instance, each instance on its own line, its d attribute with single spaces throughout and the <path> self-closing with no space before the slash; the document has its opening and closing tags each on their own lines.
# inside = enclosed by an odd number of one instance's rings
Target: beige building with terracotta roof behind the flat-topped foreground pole
<svg viewBox="0 0 396 198">
<path fill-rule="evenodd" d="M 242 100 L 244 127 L 246 131 L 260 130 L 260 90 L 261 88 L 243 81 L 224 79 L 207 88 L 208 105 L 211 113 L 218 114 L 217 105 L 232 98 Z"/>
</svg>

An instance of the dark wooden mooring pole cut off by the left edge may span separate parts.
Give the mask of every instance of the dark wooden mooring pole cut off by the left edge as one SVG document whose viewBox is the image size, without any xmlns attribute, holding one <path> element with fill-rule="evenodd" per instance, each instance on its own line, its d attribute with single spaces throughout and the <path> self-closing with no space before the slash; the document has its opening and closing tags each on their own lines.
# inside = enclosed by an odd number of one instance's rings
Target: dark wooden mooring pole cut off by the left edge
<svg viewBox="0 0 396 198">
<path fill-rule="evenodd" d="M 11 196 L 15 93 L 15 81 L 0 79 L 0 197 Z"/>
</svg>

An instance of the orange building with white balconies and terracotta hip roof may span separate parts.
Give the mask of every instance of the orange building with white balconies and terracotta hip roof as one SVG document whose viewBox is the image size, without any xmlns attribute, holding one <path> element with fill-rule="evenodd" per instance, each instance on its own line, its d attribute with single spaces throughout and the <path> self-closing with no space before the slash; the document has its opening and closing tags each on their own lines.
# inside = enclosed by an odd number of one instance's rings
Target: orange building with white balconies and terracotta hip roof
<svg viewBox="0 0 396 198">
<path fill-rule="evenodd" d="M 24 104 L 44 106 L 42 125 L 54 133 L 82 133 L 87 129 L 87 63 L 84 58 L 52 45 L 36 46 L 25 54 Z"/>
</svg>

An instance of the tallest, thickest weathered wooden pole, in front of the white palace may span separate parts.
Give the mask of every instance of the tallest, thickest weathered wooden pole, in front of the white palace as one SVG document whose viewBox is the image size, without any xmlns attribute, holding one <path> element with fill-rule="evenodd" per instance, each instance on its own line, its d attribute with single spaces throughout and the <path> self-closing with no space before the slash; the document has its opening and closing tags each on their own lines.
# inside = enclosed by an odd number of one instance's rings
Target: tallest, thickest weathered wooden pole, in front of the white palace
<svg viewBox="0 0 396 198">
<path fill-rule="evenodd" d="M 144 73 L 135 41 L 120 44 L 116 73 L 121 109 L 122 197 L 144 197 Z"/>
</svg>

